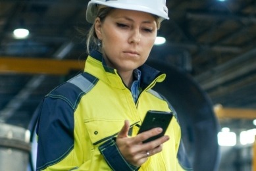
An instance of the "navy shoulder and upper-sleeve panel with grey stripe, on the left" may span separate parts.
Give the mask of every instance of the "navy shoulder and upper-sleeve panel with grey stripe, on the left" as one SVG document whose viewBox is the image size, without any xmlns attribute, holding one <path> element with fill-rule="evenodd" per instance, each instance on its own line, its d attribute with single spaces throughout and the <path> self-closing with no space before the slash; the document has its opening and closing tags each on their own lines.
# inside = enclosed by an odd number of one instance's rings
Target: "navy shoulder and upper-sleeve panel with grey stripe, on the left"
<svg viewBox="0 0 256 171">
<path fill-rule="evenodd" d="M 53 89 L 38 110 L 37 170 L 64 159 L 74 147 L 74 110 L 82 95 L 97 83 L 90 74 L 79 74 Z"/>
</svg>

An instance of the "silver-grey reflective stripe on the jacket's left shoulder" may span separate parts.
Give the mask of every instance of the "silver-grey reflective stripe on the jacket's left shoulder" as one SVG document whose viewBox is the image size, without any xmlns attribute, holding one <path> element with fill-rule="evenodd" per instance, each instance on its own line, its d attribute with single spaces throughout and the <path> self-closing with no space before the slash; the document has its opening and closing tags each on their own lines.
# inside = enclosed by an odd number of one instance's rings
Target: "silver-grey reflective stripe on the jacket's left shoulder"
<svg viewBox="0 0 256 171">
<path fill-rule="evenodd" d="M 84 76 L 82 76 L 81 74 L 69 80 L 68 82 L 79 87 L 84 93 L 88 93 L 93 87 L 93 84 L 89 80 L 84 78 Z"/>
</svg>

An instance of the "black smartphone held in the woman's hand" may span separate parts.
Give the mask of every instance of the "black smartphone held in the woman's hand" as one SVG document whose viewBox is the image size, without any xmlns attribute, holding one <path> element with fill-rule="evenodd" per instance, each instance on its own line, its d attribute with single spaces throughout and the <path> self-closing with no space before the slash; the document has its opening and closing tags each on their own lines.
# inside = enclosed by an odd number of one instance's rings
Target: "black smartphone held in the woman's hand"
<svg viewBox="0 0 256 171">
<path fill-rule="evenodd" d="M 170 124 L 170 120 L 172 120 L 172 116 L 173 116 L 172 112 L 163 112 L 163 111 L 157 111 L 157 110 L 147 111 L 147 114 L 140 126 L 140 130 L 138 134 L 140 134 L 141 132 L 145 132 L 147 130 L 151 130 L 152 128 L 157 128 L 157 127 L 161 127 L 163 129 L 163 132 L 153 137 L 149 137 L 149 139 L 146 139 L 145 141 L 143 141 L 143 143 L 147 143 L 149 141 L 155 140 L 165 135 L 166 129 Z"/>
</svg>

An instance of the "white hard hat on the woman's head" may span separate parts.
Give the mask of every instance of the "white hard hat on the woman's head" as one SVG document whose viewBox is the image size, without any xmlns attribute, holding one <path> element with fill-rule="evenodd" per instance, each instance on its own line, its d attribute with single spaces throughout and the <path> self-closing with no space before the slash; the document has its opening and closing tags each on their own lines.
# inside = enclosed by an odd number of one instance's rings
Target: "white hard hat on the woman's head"
<svg viewBox="0 0 256 171">
<path fill-rule="evenodd" d="M 128 9 L 135 11 L 148 12 L 161 18 L 161 21 L 168 18 L 168 9 L 165 5 L 166 0 L 91 0 L 86 11 L 86 20 L 93 23 L 96 18 L 96 5 L 105 5 L 116 9 Z"/>
</svg>

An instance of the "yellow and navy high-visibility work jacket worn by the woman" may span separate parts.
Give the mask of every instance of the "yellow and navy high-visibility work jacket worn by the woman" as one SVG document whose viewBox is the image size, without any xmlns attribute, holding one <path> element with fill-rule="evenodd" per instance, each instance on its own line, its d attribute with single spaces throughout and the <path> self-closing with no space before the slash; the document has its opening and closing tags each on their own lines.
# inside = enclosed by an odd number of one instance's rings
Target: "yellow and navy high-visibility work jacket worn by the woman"
<svg viewBox="0 0 256 171">
<path fill-rule="evenodd" d="M 102 61 L 101 53 L 93 51 L 82 74 L 43 99 L 36 130 L 37 170 L 182 170 L 184 161 L 178 156 L 182 157 L 184 151 L 176 117 L 166 131 L 170 139 L 163 151 L 149 157 L 140 168 L 128 164 L 115 144 L 124 120 L 130 121 L 130 135 L 134 136 L 147 110 L 171 110 L 168 102 L 151 89 L 163 82 L 165 74 L 141 66 L 142 91 L 134 103 L 116 70 Z"/>
</svg>

